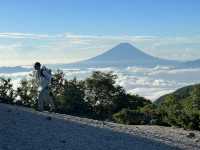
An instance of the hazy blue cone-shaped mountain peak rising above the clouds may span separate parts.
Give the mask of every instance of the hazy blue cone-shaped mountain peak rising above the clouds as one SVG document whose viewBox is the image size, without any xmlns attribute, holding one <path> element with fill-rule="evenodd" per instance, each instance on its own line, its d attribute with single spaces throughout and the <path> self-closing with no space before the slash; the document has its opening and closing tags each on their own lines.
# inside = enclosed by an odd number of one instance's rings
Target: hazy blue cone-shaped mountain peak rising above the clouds
<svg viewBox="0 0 200 150">
<path fill-rule="evenodd" d="M 155 67 L 157 65 L 180 65 L 175 60 L 161 59 L 139 50 L 129 43 L 121 43 L 114 48 L 88 60 L 77 63 L 66 64 L 65 66 L 141 66 Z"/>
</svg>

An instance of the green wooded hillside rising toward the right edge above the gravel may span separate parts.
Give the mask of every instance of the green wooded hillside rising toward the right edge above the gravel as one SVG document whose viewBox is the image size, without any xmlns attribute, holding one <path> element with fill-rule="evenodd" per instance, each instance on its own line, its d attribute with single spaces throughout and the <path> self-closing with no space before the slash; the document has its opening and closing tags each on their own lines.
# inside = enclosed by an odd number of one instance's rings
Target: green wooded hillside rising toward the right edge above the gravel
<svg viewBox="0 0 200 150">
<path fill-rule="evenodd" d="M 155 104 L 164 122 L 200 130 L 200 84 L 164 95 Z"/>
</svg>

